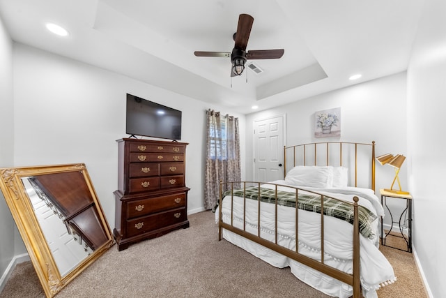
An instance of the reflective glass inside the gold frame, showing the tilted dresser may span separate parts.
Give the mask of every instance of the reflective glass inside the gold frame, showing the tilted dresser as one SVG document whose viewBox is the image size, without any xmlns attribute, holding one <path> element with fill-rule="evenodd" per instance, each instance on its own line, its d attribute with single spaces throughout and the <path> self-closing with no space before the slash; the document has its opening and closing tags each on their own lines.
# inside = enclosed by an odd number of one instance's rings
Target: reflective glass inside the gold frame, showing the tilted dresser
<svg viewBox="0 0 446 298">
<path fill-rule="evenodd" d="M 22 178 L 61 276 L 107 241 L 83 179 L 82 172 Z"/>
</svg>

